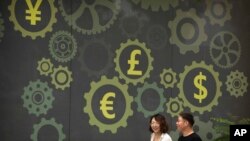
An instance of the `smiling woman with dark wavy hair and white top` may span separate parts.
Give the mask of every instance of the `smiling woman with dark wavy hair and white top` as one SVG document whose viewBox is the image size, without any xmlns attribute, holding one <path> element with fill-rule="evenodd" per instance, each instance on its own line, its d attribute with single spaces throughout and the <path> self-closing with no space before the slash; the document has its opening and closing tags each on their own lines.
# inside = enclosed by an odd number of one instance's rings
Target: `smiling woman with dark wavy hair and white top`
<svg viewBox="0 0 250 141">
<path fill-rule="evenodd" d="M 149 131 L 151 132 L 150 141 L 172 141 L 168 135 L 168 124 L 164 116 L 155 114 L 150 118 Z"/>
</svg>

